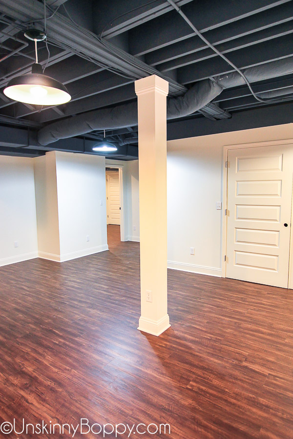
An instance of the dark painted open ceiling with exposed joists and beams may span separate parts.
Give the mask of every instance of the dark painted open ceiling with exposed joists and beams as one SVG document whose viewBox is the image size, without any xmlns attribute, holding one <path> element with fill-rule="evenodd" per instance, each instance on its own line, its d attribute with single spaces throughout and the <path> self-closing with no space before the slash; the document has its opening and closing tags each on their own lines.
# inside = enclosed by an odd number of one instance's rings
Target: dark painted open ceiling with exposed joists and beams
<svg viewBox="0 0 293 439">
<path fill-rule="evenodd" d="M 285 58 L 293 60 L 293 1 L 177 0 L 176 3 L 238 68 Z M 62 23 L 71 27 L 68 38 L 63 35 Z M 23 36 L 24 30 L 32 26 L 44 29 L 43 1 L 0 0 L 0 133 L 3 138 L 6 136 L 5 141 L 0 136 L 0 154 L 29 157 L 44 154 L 48 149 L 41 150 L 30 141 L 39 127 L 135 100 L 134 80 L 146 76 L 144 72 L 155 71 L 169 78 L 174 90 L 177 86 L 178 90 L 184 90 L 198 80 L 232 71 L 229 64 L 194 35 L 165 0 L 46 0 L 47 47 L 44 42 L 39 43 L 39 61 L 46 75 L 66 85 L 72 100 L 51 108 L 22 104 L 9 100 L 2 91 L 11 78 L 28 73 L 35 62 L 34 43 Z M 84 46 L 85 34 L 92 36 L 90 48 Z M 95 51 L 96 41 L 113 45 L 109 56 L 98 48 Z M 133 67 L 131 57 L 125 62 L 125 54 L 134 57 Z M 201 112 L 196 112 L 182 120 L 169 121 L 168 138 L 293 121 L 293 88 L 290 93 L 293 69 L 291 74 L 251 85 L 255 93 L 288 90 L 277 104 L 258 102 L 246 85 L 224 90 L 215 102 L 231 113 L 231 119 L 207 120 Z M 12 128 L 18 131 L 15 131 L 15 142 L 9 144 L 11 131 L 7 130 Z M 27 144 L 23 140 L 24 132 L 28 133 Z M 17 143 L 18 133 L 22 137 L 19 136 L 21 141 Z M 121 147 L 118 154 L 111 154 L 113 158 L 137 157 L 137 126 L 108 131 L 106 136 L 117 144 L 130 139 L 129 148 Z M 84 152 L 90 153 L 92 142 L 101 137 L 102 132 L 92 132 L 81 138 L 79 144 L 83 143 Z M 83 152 L 80 146 L 70 149 L 70 141 L 64 142 L 63 150 Z M 50 147 L 54 149 L 54 144 Z"/>
</svg>

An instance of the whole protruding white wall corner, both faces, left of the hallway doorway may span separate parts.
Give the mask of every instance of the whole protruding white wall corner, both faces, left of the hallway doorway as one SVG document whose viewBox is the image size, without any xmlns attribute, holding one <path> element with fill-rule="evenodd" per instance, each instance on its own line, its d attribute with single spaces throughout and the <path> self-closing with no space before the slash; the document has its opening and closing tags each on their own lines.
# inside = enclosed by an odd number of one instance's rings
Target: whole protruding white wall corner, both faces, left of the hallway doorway
<svg viewBox="0 0 293 439">
<path fill-rule="evenodd" d="M 105 157 L 50 151 L 35 159 L 35 182 L 41 258 L 108 250 Z"/>
</svg>

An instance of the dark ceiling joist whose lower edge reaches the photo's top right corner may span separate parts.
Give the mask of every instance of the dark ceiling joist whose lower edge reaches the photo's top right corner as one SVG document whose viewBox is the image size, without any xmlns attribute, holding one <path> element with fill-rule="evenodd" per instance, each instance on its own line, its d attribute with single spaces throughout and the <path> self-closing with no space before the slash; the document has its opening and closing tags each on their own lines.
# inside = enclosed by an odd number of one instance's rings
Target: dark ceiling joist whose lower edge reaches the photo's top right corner
<svg viewBox="0 0 293 439">
<path fill-rule="evenodd" d="M 205 0 L 188 3 L 182 6 L 182 11 L 199 31 L 204 33 L 287 1 L 290 0 L 234 0 L 232 6 L 227 7 L 222 1 Z M 164 17 L 158 17 L 130 30 L 129 51 L 132 55 L 143 55 L 194 35 L 186 21 L 174 10 Z"/>
</svg>

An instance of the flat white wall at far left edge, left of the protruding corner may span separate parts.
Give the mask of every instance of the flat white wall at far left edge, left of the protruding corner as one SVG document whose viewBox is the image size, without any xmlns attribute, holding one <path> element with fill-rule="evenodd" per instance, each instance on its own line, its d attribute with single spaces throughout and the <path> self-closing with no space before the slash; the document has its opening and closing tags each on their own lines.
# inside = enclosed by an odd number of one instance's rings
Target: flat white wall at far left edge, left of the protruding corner
<svg viewBox="0 0 293 439">
<path fill-rule="evenodd" d="M 0 265 L 37 258 L 33 159 L 0 156 L 0 231 Z"/>
</svg>

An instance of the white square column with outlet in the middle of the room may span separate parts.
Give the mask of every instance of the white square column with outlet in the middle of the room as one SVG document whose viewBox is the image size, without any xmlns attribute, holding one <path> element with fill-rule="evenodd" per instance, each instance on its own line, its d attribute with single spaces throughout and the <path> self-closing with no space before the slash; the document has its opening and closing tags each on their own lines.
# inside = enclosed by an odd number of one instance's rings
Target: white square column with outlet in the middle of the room
<svg viewBox="0 0 293 439">
<path fill-rule="evenodd" d="M 153 75 L 135 81 L 138 96 L 140 331 L 159 336 L 167 313 L 167 94 Z"/>
</svg>

